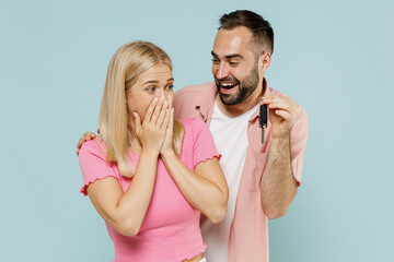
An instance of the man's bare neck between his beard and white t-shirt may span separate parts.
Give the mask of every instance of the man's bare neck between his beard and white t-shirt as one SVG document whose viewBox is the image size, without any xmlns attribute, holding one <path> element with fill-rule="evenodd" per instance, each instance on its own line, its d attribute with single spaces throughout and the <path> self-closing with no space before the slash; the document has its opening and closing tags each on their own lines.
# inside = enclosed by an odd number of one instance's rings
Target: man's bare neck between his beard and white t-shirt
<svg viewBox="0 0 394 262">
<path fill-rule="evenodd" d="M 220 99 L 219 93 L 217 94 L 216 100 L 218 104 L 218 108 L 222 114 L 224 114 L 225 116 L 228 116 L 230 118 L 235 118 L 235 117 L 240 117 L 240 116 L 244 115 L 245 112 L 251 110 L 254 106 L 256 106 L 258 103 L 258 98 L 262 96 L 263 96 L 263 85 L 260 84 L 241 104 L 233 105 L 233 106 L 224 105 Z"/>
</svg>

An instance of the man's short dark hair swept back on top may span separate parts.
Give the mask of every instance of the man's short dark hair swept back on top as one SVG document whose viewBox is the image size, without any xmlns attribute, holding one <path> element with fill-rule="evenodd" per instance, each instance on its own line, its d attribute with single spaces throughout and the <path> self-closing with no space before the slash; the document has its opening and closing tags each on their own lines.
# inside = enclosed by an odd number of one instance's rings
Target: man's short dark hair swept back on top
<svg viewBox="0 0 394 262">
<path fill-rule="evenodd" d="M 233 29 L 237 26 L 245 26 L 252 31 L 253 50 L 257 56 L 263 52 L 274 52 L 274 31 L 269 22 L 262 15 L 248 10 L 236 10 L 220 17 L 219 29 Z"/>
</svg>

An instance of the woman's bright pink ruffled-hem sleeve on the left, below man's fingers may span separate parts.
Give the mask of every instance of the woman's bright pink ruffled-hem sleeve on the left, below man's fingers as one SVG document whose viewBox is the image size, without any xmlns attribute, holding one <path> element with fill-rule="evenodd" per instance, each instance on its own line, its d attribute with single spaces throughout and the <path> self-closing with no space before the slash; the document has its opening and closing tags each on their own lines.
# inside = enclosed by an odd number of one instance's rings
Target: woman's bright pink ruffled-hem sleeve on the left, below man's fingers
<svg viewBox="0 0 394 262">
<path fill-rule="evenodd" d="M 84 142 L 79 154 L 79 163 L 83 177 L 81 193 L 88 195 L 88 186 L 96 180 L 116 177 L 113 168 L 105 162 L 104 146 L 97 140 Z"/>
</svg>

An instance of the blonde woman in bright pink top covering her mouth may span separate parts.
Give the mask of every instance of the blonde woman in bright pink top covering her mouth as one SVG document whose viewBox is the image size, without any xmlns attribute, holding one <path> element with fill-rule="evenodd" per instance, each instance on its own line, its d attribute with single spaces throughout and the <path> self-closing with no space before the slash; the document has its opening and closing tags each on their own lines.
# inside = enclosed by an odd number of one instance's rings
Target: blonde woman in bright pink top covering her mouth
<svg viewBox="0 0 394 262">
<path fill-rule="evenodd" d="M 228 186 L 208 127 L 176 121 L 172 64 L 158 46 L 134 41 L 113 56 L 101 135 L 79 154 L 88 194 L 104 218 L 116 262 L 206 261 L 199 218 L 223 219 Z"/>
</svg>

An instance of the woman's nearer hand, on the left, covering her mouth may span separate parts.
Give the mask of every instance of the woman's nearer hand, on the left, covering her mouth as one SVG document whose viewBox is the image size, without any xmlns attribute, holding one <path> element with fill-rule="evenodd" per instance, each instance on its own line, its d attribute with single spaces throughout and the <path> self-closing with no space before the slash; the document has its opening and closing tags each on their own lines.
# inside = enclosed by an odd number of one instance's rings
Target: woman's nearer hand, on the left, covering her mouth
<svg viewBox="0 0 394 262">
<path fill-rule="evenodd" d="M 170 121 L 171 111 L 169 109 L 169 102 L 162 98 L 154 98 L 150 104 L 142 122 L 137 112 L 134 112 L 134 115 L 136 134 L 141 143 L 142 150 L 159 154 Z"/>
</svg>

